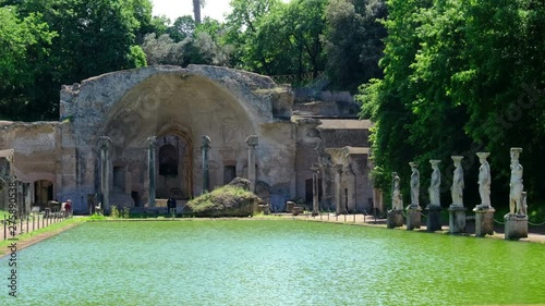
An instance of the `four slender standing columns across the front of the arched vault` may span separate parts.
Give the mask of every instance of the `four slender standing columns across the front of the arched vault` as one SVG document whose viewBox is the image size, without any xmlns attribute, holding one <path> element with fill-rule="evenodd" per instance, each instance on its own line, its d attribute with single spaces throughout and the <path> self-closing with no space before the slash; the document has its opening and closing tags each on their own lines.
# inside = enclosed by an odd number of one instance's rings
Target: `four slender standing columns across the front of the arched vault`
<svg viewBox="0 0 545 306">
<path fill-rule="evenodd" d="M 208 151 L 210 149 L 210 137 L 203 135 L 202 138 L 202 155 L 203 155 L 203 193 L 210 189 L 210 173 L 209 173 L 209 160 Z M 256 171 L 255 171 L 255 150 L 258 145 L 258 137 L 256 135 L 251 135 L 245 140 L 247 146 L 247 175 L 251 184 L 251 191 L 255 192 L 256 182 Z M 156 201 L 156 151 L 157 151 L 157 137 L 150 136 L 146 140 L 147 145 L 147 166 L 148 166 L 148 207 L 155 207 Z M 110 147 L 111 139 L 108 136 L 98 137 L 98 148 L 100 151 L 100 194 L 101 194 L 101 207 L 108 210 L 110 208 L 109 196 L 110 196 Z"/>
</svg>

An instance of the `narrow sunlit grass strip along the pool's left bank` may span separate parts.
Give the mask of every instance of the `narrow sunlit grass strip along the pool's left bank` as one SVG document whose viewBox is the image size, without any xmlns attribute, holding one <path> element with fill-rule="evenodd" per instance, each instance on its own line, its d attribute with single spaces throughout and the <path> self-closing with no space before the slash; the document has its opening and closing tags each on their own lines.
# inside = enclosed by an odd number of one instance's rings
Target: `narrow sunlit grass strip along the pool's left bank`
<svg viewBox="0 0 545 306">
<path fill-rule="evenodd" d="M 22 235 L 15 236 L 19 238 L 16 241 L 17 243 L 17 249 L 25 248 L 27 246 L 31 246 L 37 242 L 40 242 L 45 238 L 48 238 L 50 236 L 53 236 L 58 233 L 61 233 L 68 229 L 71 229 L 73 227 L 80 225 L 84 222 L 87 221 L 87 218 L 70 218 L 66 219 L 62 222 L 51 224 L 47 228 L 43 228 L 29 233 L 25 233 Z M 0 241 L 0 258 L 5 256 L 10 250 L 8 248 L 9 245 L 11 245 L 14 241 Z"/>
</svg>

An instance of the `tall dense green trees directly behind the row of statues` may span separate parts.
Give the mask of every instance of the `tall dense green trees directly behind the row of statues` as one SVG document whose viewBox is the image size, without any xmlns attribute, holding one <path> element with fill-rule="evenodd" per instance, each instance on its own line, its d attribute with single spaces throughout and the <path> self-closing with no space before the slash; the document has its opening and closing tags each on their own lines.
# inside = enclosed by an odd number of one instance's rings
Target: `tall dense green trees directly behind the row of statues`
<svg viewBox="0 0 545 306">
<path fill-rule="evenodd" d="M 390 0 L 388 11 L 385 75 L 362 86 L 360 96 L 364 114 L 376 122 L 375 176 L 398 171 L 409 178 L 407 163 L 416 160 L 426 178 L 427 160 L 436 158 L 448 191 L 451 155 L 465 156 L 472 173 L 475 152 L 491 151 L 493 197 L 502 206 L 509 148 L 522 147 L 529 198 L 543 199 L 545 4 Z"/>
</svg>

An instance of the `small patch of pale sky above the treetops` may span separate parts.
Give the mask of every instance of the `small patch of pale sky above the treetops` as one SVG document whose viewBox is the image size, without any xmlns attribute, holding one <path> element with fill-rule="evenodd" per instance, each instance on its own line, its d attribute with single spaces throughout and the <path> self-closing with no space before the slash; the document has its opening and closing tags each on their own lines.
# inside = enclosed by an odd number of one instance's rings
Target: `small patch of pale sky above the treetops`
<svg viewBox="0 0 545 306">
<path fill-rule="evenodd" d="M 154 16 L 166 15 L 170 22 L 183 15 L 193 16 L 193 0 L 152 0 L 154 4 Z M 225 21 L 223 13 L 230 12 L 230 0 L 206 0 L 205 7 L 201 9 L 202 19 L 208 16 Z"/>
</svg>

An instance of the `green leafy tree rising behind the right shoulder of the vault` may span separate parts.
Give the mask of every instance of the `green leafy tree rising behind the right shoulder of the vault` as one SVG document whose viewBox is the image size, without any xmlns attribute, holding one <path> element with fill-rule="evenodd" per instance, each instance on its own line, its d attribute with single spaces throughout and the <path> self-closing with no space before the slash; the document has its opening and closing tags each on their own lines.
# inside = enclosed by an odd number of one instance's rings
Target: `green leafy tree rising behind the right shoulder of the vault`
<svg viewBox="0 0 545 306">
<path fill-rule="evenodd" d="M 267 75 L 306 72 L 325 66 L 323 44 L 326 0 L 233 0 L 226 40 L 235 46 L 239 68 Z"/>
</svg>

